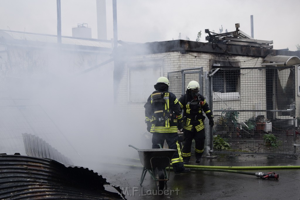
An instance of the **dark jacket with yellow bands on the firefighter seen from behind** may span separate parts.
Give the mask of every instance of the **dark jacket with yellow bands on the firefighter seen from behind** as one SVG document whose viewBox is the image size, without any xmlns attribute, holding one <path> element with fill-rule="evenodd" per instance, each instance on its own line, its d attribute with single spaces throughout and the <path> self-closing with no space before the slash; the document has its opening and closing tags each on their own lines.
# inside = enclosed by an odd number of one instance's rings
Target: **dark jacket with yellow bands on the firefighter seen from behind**
<svg viewBox="0 0 300 200">
<path fill-rule="evenodd" d="M 154 117 L 155 108 L 153 103 L 153 94 L 151 94 L 147 103 L 145 104 L 145 116 L 146 123 L 151 124 L 151 133 L 177 133 L 177 119 L 181 119 L 181 108 L 175 94 L 168 91 L 157 91 L 163 93 L 164 100 L 164 118 L 162 121 L 158 121 Z M 155 92 L 154 92 L 155 93 Z"/>
</svg>

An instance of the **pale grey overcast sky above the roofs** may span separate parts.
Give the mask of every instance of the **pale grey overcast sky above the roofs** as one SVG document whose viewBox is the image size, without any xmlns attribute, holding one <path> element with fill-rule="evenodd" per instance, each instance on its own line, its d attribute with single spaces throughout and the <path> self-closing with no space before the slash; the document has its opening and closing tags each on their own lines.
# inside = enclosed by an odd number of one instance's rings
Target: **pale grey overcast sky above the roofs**
<svg viewBox="0 0 300 200">
<path fill-rule="evenodd" d="M 1 0 L 0 29 L 57 34 L 55 0 Z M 106 0 L 107 39 L 113 38 L 112 0 Z M 189 37 L 196 40 L 205 29 L 240 30 L 254 38 L 273 40 L 274 49 L 296 50 L 300 43 L 299 0 L 117 0 L 118 40 L 152 42 Z M 61 0 L 63 36 L 72 36 L 72 27 L 87 23 L 97 38 L 96 0 Z"/>
</svg>

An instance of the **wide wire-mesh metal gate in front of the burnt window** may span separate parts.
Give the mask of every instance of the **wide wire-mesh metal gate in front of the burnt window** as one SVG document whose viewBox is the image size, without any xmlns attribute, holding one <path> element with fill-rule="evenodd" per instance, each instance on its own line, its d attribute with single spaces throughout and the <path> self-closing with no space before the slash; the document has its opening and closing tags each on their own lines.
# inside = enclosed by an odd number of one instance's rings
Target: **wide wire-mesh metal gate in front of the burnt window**
<svg viewBox="0 0 300 200">
<path fill-rule="evenodd" d="M 215 68 L 210 153 L 293 154 L 295 67 Z"/>
</svg>

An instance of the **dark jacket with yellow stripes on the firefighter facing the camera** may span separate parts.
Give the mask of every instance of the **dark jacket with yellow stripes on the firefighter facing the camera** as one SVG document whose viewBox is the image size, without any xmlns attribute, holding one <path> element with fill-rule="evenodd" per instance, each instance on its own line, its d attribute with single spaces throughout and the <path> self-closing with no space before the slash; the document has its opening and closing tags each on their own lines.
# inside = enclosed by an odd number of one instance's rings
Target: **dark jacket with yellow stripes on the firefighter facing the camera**
<svg viewBox="0 0 300 200">
<path fill-rule="evenodd" d="M 212 112 L 209 109 L 208 103 L 202 94 L 198 93 L 196 98 L 193 98 L 187 92 L 179 98 L 180 107 L 183 109 L 183 128 L 185 130 L 191 131 L 193 127 L 196 131 L 204 129 L 203 121 L 205 116 L 202 112 L 205 113 L 208 119 L 212 119 Z"/>
</svg>

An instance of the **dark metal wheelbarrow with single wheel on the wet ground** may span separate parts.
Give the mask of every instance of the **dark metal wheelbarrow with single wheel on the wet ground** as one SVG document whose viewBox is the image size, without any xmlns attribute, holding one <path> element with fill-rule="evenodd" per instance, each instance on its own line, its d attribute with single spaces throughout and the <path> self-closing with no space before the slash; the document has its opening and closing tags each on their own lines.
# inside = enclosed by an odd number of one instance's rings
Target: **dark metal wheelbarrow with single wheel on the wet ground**
<svg viewBox="0 0 300 200">
<path fill-rule="evenodd" d="M 138 149 L 132 145 L 128 145 L 136 149 L 139 153 L 140 161 L 143 165 L 143 171 L 140 179 L 140 185 L 143 184 L 146 173 L 149 172 L 151 177 L 156 181 L 158 190 L 163 190 L 165 183 L 170 176 L 170 160 L 175 154 L 174 149 Z M 161 145 L 160 145 L 161 147 Z M 169 172 L 166 168 L 169 166 Z"/>
</svg>

